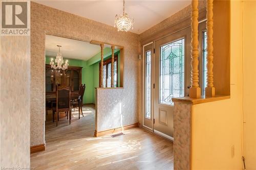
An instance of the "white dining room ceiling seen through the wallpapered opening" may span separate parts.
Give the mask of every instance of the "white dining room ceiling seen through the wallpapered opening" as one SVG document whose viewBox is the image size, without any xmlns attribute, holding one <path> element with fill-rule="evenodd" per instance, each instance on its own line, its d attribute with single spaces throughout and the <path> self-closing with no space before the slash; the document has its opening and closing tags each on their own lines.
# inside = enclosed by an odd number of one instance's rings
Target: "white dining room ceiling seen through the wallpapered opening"
<svg viewBox="0 0 256 170">
<path fill-rule="evenodd" d="M 46 55 L 55 57 L 58 53 L 57 45 L 61 45 L 60 53 L 63 58 L 88 60 L 100 52 L 100 46 L 89 42 L 69 38 L 46 35 Z"/>
</svg>

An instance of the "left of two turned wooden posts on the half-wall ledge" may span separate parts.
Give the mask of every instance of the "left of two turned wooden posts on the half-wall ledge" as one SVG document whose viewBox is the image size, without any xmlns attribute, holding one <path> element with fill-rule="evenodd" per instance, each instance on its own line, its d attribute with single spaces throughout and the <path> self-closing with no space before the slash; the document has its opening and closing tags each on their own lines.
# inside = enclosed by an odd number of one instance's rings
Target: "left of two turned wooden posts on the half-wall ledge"
<svg viewBox="0 0 256 170">
<path fill-rule="evenodd" d="M 190 98 L 201 98 L 201 89 L 198 84 L 198 0 L 192 0 L 191 7 L 191 87 L 189 96 Z"/>
</svg>

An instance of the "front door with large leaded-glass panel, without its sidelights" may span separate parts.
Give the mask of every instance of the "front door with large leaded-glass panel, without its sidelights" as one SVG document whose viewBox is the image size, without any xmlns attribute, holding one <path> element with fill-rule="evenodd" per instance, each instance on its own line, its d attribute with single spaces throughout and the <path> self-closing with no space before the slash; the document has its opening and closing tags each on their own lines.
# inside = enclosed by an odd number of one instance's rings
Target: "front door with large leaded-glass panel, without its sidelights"
<svg viewBox="0 0 256 170">
<path fill-rule="evenodd" d="M 174 136 L 172 98 L 186 95 L 185 45 L 190 42 L 187 35 L 189 29 L 184 29 L 155 41 L 154 132 L 171 140 Z"/>
</svg>

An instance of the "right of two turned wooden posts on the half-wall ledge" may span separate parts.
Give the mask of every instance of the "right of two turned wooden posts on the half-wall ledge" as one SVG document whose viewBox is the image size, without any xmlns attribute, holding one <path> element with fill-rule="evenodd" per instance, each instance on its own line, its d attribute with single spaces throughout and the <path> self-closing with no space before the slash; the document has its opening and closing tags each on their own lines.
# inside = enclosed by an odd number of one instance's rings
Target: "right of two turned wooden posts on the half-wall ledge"
<svg viewBox="0 0 256 170">
<path fill-rule="evenodd" d="M 213 0 L 207 0 L 206 6 L 206 29 L 207 29 L 207 87 L 205 87 L 205 96 L 215 96 L 214 87 L 214 45 L 213 45 L 213 34 L 214 34 L 214 12 L 213 12 Z"/>
</svg>

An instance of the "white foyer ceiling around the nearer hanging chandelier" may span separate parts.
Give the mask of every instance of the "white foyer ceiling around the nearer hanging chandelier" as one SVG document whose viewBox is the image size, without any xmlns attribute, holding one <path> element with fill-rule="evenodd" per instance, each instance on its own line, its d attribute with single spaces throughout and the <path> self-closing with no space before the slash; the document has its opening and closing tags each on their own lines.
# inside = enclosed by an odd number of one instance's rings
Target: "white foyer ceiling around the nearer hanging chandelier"
<svg viewBox="0 0 256 170">
<path fill-rule="evenodd" d="M 40 1 L 35 2 L 52 8 L 86 17 L 95 21 L 114 26 L 116 14 L 122 14 L 122 1 Z M 134 33 L 142 32 L 175 14 L 190 4 L 190 0 L 155 0 L 155 1 L 125 1 L 125 12 L 134 17 Z"/>
</svg>

